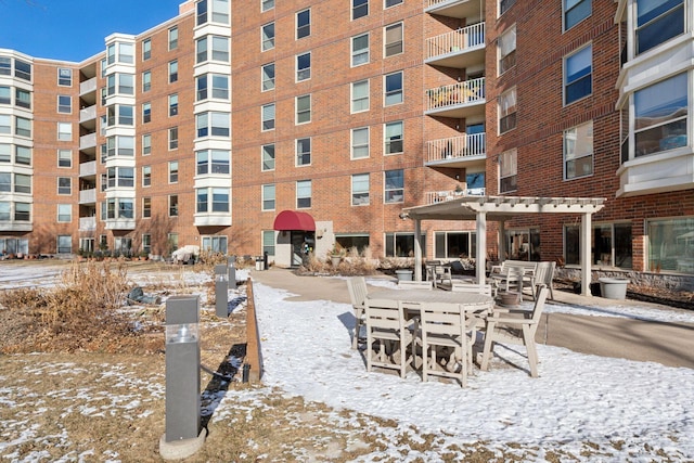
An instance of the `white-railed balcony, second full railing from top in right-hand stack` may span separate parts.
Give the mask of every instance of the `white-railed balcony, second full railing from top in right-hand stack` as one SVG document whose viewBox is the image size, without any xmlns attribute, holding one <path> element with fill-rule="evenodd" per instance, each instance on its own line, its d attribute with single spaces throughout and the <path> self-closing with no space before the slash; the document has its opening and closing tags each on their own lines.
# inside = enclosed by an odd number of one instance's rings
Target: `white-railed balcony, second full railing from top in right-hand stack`
<svg viewBox="0 0 694 463">
<path fill-rule="evenodd" d="M 465 80 L 426 91 L 426 114 L 464 118 L 485 115 L 485 78 Z"/>
</svg>

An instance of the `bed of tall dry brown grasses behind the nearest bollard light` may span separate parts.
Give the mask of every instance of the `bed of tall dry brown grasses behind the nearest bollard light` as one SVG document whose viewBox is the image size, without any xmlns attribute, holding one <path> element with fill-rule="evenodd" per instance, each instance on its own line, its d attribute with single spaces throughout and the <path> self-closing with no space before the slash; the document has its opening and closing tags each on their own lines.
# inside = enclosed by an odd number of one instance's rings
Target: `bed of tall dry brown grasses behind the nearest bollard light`
<svg viewBox="0 0 694 463">
<path fill-rule="evenodd" d="M 73 262 L 54 287 L 1 293 L 0 352 L 160 350 L 162 340 L 136 331 L 121 310 L 127 275 L 123 260 Z"/>
</svg>

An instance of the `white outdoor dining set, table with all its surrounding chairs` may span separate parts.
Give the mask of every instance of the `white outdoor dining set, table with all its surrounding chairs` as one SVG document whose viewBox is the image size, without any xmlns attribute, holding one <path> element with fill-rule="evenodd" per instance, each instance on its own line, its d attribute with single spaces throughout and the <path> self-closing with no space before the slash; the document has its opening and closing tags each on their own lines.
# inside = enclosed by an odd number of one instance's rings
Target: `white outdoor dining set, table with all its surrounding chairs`
<svg viewBox="0 0 694 463">
<path fill-rule="evenodd" d="M 493 269 L 490 283 L 478 284 L 432 266 L 427 281 L 399 281 L 397 288 L 371 292 L 363 276 L 351 276 L 352 348 L 362 349 L 369 372 L 395 370 L 406 377 L 413 370 L 424 382 L 445 377 L 465 387 L 474 360 L 488 370 L 496 343 L 519 344 L 526 347 L 530 376 L 537 377 L 535 334 L 550 294 L 542 272 L 504 265 Z M 524 288 L 534 299 L 529 309 L 519 304 Z M 475 352 L 478 333 L 484 347 Z"/>
</svg>

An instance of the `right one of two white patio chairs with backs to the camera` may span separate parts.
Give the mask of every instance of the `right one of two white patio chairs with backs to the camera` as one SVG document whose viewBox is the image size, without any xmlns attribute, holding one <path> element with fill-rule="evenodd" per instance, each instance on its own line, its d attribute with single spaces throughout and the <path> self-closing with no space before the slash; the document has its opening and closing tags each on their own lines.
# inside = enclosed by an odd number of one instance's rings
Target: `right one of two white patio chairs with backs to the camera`
<svg viewBox="0 0 694 463">
<path fill-rule="evenodd" d="M 457 304 L 423 304 L 420 310 L 422 336 L 422 381 L 449 377 L 467 386 L 472 342 L 467 337 L 465 311 Z"/>
</svg>

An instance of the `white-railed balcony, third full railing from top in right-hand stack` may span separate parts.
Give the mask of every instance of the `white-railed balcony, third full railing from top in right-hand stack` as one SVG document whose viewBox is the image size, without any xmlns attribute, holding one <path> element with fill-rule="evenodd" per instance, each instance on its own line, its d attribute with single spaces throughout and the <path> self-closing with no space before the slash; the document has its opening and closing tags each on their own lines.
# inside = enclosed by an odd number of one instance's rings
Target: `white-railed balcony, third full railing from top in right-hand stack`
<svg viewBox="0 0 694 463">
<path fill-rule="evenodd" d="M 486 133 L 430 140 L 427 142 L 426 165 L 471 168 L 485 167 L 487 160 Z"/>
</svg>

